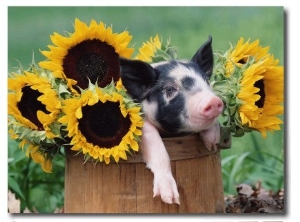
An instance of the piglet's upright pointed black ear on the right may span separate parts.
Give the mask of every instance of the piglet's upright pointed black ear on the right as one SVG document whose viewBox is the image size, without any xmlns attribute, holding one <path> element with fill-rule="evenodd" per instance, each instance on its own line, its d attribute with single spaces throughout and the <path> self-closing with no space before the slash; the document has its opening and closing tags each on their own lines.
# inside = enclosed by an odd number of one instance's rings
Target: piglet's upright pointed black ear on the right
<svg viewBox="0 0 300 222">
<path fill-rule="evenodd" d="M 209 36 L 208 40 L 198 49 L 192 60 L 201 70 L 205 72 L 205 75 L 209 78 L 212 74 L 214 57 L 212 52 L 212 37 Z"/>
</svg>

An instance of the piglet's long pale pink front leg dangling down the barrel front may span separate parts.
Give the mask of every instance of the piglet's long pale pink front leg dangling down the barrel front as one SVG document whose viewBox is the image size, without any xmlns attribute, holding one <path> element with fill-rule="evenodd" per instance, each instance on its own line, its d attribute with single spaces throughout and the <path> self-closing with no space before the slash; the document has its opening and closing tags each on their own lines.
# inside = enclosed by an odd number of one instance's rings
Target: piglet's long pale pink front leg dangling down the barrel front
<svg viewBox="0 0 300 222">
<path fill-rule="evenodd" d="M 158 130 L 148 121 L 143 126 L 141 153 L 147 168 L 154 174 L 153 197 L 160 195 L 165 203 L 180 204 L 169 155 Z"/>
</svg>

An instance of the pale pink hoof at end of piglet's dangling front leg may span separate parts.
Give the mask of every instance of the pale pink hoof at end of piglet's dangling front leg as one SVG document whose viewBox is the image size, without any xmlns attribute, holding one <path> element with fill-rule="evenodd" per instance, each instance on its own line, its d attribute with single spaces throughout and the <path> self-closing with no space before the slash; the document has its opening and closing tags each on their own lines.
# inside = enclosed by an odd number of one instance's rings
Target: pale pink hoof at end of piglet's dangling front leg
<svg viewBox="0 0 300 222">
<path fill-rule="evenodd" d="M 176 182 L 171 175 L 160 176 L 154 179 L 153 197 L 159 196 L 167 204 L 180 204 Z"/>
</svg>

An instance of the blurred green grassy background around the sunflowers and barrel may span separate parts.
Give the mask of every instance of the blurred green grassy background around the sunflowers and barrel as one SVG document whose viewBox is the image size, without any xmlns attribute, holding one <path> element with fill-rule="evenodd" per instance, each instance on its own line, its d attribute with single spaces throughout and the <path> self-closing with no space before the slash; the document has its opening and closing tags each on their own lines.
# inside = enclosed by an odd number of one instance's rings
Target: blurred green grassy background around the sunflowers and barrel
<svg viewBox="0 0 300 222">
<path fill-rule="evenodd" d="M 8 72 L 20 64 L 28 68 L 32 56 L 45 60 L 40 50 L 52 44 L 50 35 L 73 32 L 75 18 L 90 23 L 92 19 L 112 25 L 113 32 L 128 30 L 131 46 L 137 49 L 158 34 L 163 42 L 171 40 L 178 47 L 179 58 L 190 59 L 208 36 L 213 50 L 225 51 L 240 37 L 260 40 L 284 65 L 283 7 L 8 7 Z M 134 55 L 135 55 L 134 54 Z M 282 117 L 283 119 L 283 117 Z M 285 140 L 282 130 L 268 133 L 264 139 L 252 132 L 233 138 L 230 149 L 222 150 L 225 195 L 235 195 L 236 185 L 255 185 L 265 189 L 284 188 Z M 44 173 L 8 139 L 8 188 L 21 200 L 21 208 L 50 213 L 64 202 L 64 157 L 54 160 L 53 173 Z"/>
</svg>

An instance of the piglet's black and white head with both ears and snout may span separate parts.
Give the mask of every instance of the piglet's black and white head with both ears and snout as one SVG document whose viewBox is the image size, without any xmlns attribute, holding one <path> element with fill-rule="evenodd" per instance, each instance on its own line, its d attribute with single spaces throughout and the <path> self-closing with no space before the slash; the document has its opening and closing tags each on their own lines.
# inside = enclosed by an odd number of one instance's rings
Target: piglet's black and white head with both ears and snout
<svg viewBox="0 0 300 222">
<path fill-rule="evenodd" d="M 209 86 L 213 69 L 212 38 L 191 61 L 148 64 L 120 59 L 121 78 L 128 93 L 142 104 L 145 118 L 162 133 L 195 133 L 209 129 L 223 102 Z"/>
</svg>

